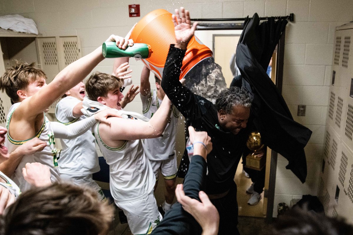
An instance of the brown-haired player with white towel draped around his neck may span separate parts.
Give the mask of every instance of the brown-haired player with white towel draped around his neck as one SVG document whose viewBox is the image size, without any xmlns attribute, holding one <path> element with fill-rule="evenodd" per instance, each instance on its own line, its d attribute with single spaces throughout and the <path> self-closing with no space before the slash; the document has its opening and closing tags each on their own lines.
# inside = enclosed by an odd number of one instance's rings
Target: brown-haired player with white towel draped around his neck
<svg viewBox="0 0 353 235">
<path fill-rule="evenodd" d="M 109 165 L 110 192 L 115 204 L 124 211 L 131 233 L 149 234 L 162 217 L 153 194 L 156 178 L 144 154 L 141 139 L 162 135 L 171 104 L 166 96 L 151 119 L 123 111 L 121 86 L 122 81 L 113 75 L 92 74 L 86 82 L 87 96 L 83 107 L 86 115 L 107 108 L 120 110 L 122 117 L 110 117 L 110 125 L 97 123 L 94 135 Z"/>
</svg>

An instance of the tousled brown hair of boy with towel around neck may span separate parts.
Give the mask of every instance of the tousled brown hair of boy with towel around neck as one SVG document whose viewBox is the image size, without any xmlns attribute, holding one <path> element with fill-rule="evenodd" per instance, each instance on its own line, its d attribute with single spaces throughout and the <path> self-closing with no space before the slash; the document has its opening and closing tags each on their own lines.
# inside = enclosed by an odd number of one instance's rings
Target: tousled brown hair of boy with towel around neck
<svg viewBox="0 0 353 235">
<path fill-rule="evenodd" d="M 90 100 L 97 101 L 98 97 L 107 97 L 109 91 L 122 87 L 124 82 L 116 76 L 95 72 L 86 82 L 85 92 Z"/>
</svg>

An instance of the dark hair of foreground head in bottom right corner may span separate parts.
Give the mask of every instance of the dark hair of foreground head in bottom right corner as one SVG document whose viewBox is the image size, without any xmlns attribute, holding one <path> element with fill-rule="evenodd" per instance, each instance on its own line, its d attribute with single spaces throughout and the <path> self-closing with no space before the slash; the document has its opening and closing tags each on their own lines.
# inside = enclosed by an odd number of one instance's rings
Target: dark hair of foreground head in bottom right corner
<svg viewBox="0 0 353 235">
<path fill-rule="evenodd" d="M 331 218 L 295 207 L 271 225 L 268 235 L 352 235 L 353 226 L 345 219 Z"/>
</svg>

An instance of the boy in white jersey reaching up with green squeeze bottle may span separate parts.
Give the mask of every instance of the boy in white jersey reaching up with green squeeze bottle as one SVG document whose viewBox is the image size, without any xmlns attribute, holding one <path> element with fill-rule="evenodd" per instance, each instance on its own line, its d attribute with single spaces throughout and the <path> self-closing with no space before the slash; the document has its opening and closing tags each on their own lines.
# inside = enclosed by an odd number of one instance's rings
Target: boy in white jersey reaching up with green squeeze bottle
<svg viewBox="0 0 353 235">
<path fill-rule="evenodd" d="M 115 35 L 111 35 L 107 41 L 116 42 L 121 49 L 125 49 L 128 43 L 133 44 L 131 39 L 126 40 Z M 69 64 L 48 85 L 45 73 L 42 69 L 35 68 L 34 63 L 17 63 L 6 69 L 0 79 L 0 88 L 6 91 L 13 103 L 16 103 L 11 106 L 7 118 L 6 143 L 9 151 L 12 152 L 33 137 L 47 142 L 43 151 L 23 157 L 22 162 L 40 162 L 49 166 L 52 181 L 58 181 L 60 177 L 54 132 L 52 124 L 44 116 L 44 111 L 66 91 L 82 81 L 103 59 L 102 47 L 99 47 Z M 15 172 L 15 175 L 16 173 L 18 175 L 17 183 L 21 180 L 21 183 L 25 185 L 23 189 L 26 190 L 30 186 L 26 185 L 20 171 L 21 167 L 18 167 Z"/>
</svg>

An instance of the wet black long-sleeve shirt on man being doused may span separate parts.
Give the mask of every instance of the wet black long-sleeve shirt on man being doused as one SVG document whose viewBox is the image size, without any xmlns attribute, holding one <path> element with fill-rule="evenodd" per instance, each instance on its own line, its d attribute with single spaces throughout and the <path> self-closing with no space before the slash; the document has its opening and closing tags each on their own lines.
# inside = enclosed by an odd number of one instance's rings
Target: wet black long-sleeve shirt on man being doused
<svg viewBox="0 0 353 235">
<path fill-rule="evenodd" d="M 185 50 L 170 45 L 163 70 L 162 88 L 168 98 L 197 131 L 207 131 L 213 150 L 207 155 L 207 194 L 224 193 L 231 187 L 238 163 L 246 148 L 247 128 L 234 135 L 223 130 L 217 110 L 209 100 L 193 94 L 179 82 L 180 68 Z"/>
</svg>

